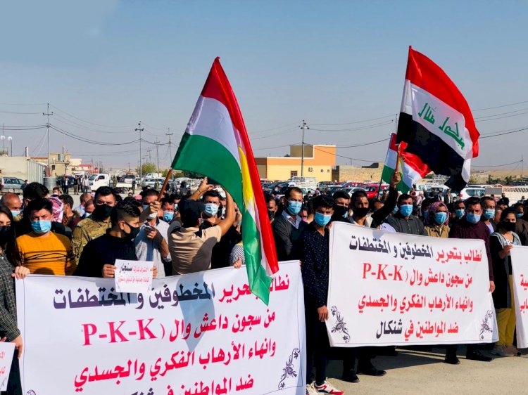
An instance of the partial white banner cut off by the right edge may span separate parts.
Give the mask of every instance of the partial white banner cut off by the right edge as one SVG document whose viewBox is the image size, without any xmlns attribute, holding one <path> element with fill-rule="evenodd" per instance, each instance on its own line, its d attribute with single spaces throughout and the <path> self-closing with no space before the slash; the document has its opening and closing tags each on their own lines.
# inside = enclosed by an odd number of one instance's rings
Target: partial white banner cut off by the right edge
<svg viewBox="0 0 528 395">
<path fill-rule="evenodd" d="M 517 348 L 528 347 L 528 247 L 515 246 L 512 258 L 513 297 L 515 301 L 515 332 Z"/>
</svg>

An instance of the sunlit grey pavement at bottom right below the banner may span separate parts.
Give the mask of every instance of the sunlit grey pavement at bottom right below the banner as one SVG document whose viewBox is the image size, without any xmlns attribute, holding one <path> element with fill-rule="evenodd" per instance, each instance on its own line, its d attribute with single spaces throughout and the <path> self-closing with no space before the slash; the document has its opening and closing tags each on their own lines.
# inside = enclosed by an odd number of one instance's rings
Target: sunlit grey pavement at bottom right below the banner
<svg viewBox="0 0 528 395">
<path fill-rule="evenodd" d="M 329 361 L 327 376 L 345 394 L 528 394 L 522 382 L 528 372 L 528 350 L 523 351 L 520 357 L 477 362 L 467 361 L 459 347 L 460 365 L 448 365 L 442 362 L 444 349 L 398 349 L 398 356 L 372 360 L 376 368 L 386 370 L 383 377 L 359 375 L 357 384 L 341 381 L 342 363 L 337 359 Z"/>
</svg>

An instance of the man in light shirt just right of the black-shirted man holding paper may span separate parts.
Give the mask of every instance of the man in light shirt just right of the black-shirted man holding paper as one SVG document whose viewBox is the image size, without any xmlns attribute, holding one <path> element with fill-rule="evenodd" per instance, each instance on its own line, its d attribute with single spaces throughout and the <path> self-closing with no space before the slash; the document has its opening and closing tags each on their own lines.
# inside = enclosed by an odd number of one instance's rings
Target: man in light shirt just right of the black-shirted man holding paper
<svg viewBox="0 0 528 395">
<path fill-rule="evenodd" d="M 142 192 L 143 210 L 149 210 L 151 202 L 158 200 L 158 195 L 159 193 L 155 189 Z M 139 234 L 134 238 L 137 259 L 139 261 L 153 261 L 154 267 L 158 270 L 158 278 L 165 278 L 165 262 L 167 266 L 172 267 L 167 238 L 168 230 L 169 224 L 158 219 L 158 213 L 149 214 L 143 222 Z"/>
</svg>

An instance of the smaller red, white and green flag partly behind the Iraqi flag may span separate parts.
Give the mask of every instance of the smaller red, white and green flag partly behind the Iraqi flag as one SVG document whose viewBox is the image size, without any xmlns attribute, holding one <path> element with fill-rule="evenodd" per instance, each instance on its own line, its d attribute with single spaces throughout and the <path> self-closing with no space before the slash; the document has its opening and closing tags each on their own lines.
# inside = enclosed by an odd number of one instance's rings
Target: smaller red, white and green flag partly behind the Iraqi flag
<svg viewBox="0 0 528 395">
<path fill-rule="evenodd" d="M 424 178 L 429 174 L 429 167 L 423 164 L 422 160 L 416 155 L 406 152 L 407 144 L 400 143 L 400 155 L 398 158 L 398 145 L 396 145 L 396 134 L 391 134 L 391 142 L 389 143 L 389 150 L 386 153 L 385 166 L 383 167 L 382 181 L 386 183 L 391 182 L 391 176 L 396 169 L 396 161 L 399 160 L 398 166 L 401 175 L 401 181 L 398 183 L 398 190 L 401 193 L 408 193 L 413 188 L 416 181 Z"/>
</svg>

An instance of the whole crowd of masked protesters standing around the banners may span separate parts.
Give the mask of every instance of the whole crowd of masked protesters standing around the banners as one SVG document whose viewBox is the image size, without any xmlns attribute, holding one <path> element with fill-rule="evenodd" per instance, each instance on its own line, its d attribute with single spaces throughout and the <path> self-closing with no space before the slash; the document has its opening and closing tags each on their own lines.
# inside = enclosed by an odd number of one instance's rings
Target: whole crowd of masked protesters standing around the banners
<svg viewBox="0 0 528 395">
<path fill-rule="evenodd" d="M 528 201 L 510 207 L 508 197 L 455 200 L 450 191 L 424 195 L 398 193 L 393 174 L 388 190 L 368 199 L 363 190 L 332 195 L 316 190 L 303 195 L 288 188 L 277 197 L 265 193 L 279 261 L 301 261 L 305 290 L 307 367 L 306 394 L 344 394 L 326 380 L 330 347 L 328 318 L 329 229 L 335 221 L 385 231 L 438 238 L 484 240 L 489 262 L 489 291 L 497 310 L 498 342 L 494 356 L 520 355 L 514 346 L 515 309 L 510 250 L 528 245 Z M 0 202 L 0 336 L 16 351 L 8 394 L 21 394 L 18 356 L 23 339 L 16 324 L 14 279 L 31 273 L 113 278 L 116 259 L 152 261 L 153 278 L 244 266 L 242 214 L 229 193 L 205 178 L 194 193 L 180 190 L 159 197 L 145 187 L 139 195 L 121 197 L 103 186 L 89 193 L 75 180 L 74 207 L 69 181 L 51 193 L 42 184 L 26 183 L 22 198 L 6 193 Z M 77 188 L 75 188 L 77 186 Z M 458 347 L 446 347 L 445 362 L 460 363 Z M 342 379 L 359 382 L 358 374 L 383 376 L 372 364 L 376 354 L 397 355 L 394 347 L 358 347 L 343 352 Z M 467 346 L 466 358 L 491 361 L 478 346 Z M 314 375 L 315 373 L 315 375 Z"/>
</svg>

